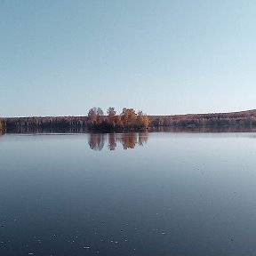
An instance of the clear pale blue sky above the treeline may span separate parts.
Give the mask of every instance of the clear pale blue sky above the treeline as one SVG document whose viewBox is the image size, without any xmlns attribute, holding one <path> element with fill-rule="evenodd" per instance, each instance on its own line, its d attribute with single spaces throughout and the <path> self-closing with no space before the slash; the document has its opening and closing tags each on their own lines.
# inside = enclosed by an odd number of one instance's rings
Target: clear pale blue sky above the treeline
<svg viewBox="0 0 256 256">
<path fill-rule="evenodd" d="M 0 116 L 256 108 L 255 0 L 0 0 Z"/>
</svg>

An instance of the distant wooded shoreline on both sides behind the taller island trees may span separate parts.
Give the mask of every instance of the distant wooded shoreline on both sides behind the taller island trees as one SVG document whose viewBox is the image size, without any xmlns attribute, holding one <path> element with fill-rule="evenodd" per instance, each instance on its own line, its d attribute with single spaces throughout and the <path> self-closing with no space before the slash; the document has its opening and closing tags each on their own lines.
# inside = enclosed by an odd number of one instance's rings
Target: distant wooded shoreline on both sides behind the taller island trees
<svg viewBox="0 0 256 256">
<path fill-rule="evenodd" d="M 1 118 L 3 130 L 33 130 L 33 129 L 74 129 L 77 131 L 140 131 L 144 128 L 103 126 L 106 116 L 99 116 L 102 124 L 94 125 L 88 116 L 29 116 L 29 117 L 4 117 Z M 159 127 L 170 128 L 223 128 L 223 127 L 256 127 L 256 109 L 230 112 L 230 113 L 209 113 L 209 114 L 187 114 L 172 116 L 148 116 L 149 129 Z"/>
</svg>

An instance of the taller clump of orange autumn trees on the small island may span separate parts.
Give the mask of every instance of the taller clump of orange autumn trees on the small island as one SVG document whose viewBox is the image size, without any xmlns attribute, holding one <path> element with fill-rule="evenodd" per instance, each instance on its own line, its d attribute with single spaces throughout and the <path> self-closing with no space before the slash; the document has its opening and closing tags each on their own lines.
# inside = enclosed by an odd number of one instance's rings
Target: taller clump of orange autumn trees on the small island
<svg viewBox="0 0 256 256">
<path fill-rule="evenodd" d="M 109 107 L 107 115 L 101 108 L 91 108 L 88 112 L 88 126 L 92 129 L 103 130 L 137 130 L 147 129 L 149 125 L 149 118 L 142 111 L 135 112 L 133 108 L 123 108 L 120 115 L 116 115 L 115 108 Z"/>
</svg>

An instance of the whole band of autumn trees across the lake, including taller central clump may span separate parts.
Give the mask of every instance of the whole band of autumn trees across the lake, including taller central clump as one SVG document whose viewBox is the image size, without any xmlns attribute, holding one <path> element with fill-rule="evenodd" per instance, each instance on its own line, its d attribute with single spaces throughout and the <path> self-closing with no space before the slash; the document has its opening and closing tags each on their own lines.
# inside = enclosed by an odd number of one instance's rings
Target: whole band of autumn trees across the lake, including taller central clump
<svg viewBox="0 0 256 256">
<path fill-rule="evenodd" d="M 231 113 L 188 114 L 173 116 L 148 116 L 133 108 L 123 108 L 116 114 L 109 107 L 106 114 L 101 108 L 91 108 L 86 116 L 32 116 L 4 117 L 0 120 L 0 130 L 5 132 L 86 132 L 86 131 L 136 131 L 168 128 L 221 128 L 256 127 L 256 110 Z"/>
</svg>

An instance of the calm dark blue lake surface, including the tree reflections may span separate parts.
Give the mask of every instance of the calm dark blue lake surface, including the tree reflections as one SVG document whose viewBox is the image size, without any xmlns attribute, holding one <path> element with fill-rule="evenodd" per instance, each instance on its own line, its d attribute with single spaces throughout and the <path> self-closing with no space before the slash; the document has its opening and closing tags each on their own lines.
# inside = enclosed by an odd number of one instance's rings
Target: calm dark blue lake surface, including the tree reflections
<svg viewBox="0 0 256 256">
<path fill-rule="evenodd" d="M 0 255 L 256 255 L 254 133 L 5 134 L 0 160 Z"/>
</svg>

